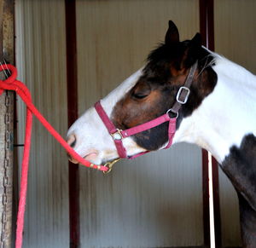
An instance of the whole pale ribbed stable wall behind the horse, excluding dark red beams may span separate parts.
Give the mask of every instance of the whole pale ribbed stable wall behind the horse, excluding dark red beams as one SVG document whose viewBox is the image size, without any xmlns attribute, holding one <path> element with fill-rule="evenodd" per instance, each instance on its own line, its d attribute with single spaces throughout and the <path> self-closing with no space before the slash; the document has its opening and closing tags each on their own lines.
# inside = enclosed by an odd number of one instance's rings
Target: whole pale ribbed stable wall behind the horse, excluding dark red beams
<svg viewBox="0 0 256 248">
<path fill-rule="evenodd" d="M 255 72 L 255 3 L 244 2 L 215 1 L 215 48 Z M 15 12 L 19 79 L 31 89 L 38 109 L 66 136 L 65 2 L 17 0 Z M 181 40 L 193 37 L 199 32 L 199 1 L 77 1 L 79 114 L 144 65 L 148 52 L 163 41 L 170 19 Z M 24 117 L 19 103 L 19 143 Z M 21 152 L 19 148 L 19 159 Z M 67 156 L 38 121 L 30 164 L 24 247 L 68 247 Z M 108 176 L 81 167 L 81 247 L 203 245 L 201 166 L 201 149 L 179 144 L 119 162 Z M 219 180 L 223 244 L 236 246 L 236 194 L 221 172 Z"/>
</svg>

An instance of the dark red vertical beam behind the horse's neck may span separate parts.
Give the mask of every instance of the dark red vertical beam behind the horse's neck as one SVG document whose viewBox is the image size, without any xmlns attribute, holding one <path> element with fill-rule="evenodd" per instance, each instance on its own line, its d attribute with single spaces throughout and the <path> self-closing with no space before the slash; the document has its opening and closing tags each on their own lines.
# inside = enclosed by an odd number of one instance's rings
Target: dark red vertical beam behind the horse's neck
<svg viewBox="0 0 256 248">
<path fill-rule="evenodd" d="M 208 49 L 214 51 L 214 0 L 200 0 L 200 32 L 202 37 L 202 43 Z M 207 152 L 203 151 L 203 187 L 206 187 L 205 183 L 208 181 L 208 165 L 206 165 Z M 207 170 L 207 171 L 204 171 Z M 215 245 L 216 248 L 221 248 L 221 222 L 220 222 L 220 208 L 219 208 L 219 187 L 218 187 L 218 163 L 216 159 L 212 157 L 212 184 L 213 184 L 213 209 L 214 209 L 214 228 L 215 228 Z M 210 220 L 206 220 L 208 212 L 205 206 L 208 201 L 208 188 L 203 190 L 204 199 L 204 230 L 205 240 L 210 237 L 210 229 L 206 226 L 209 225 Z M 209 205 L 209 204 L 207 204 Z M 210 240 L 209 240 L 210 241 Z"/>
</svg>

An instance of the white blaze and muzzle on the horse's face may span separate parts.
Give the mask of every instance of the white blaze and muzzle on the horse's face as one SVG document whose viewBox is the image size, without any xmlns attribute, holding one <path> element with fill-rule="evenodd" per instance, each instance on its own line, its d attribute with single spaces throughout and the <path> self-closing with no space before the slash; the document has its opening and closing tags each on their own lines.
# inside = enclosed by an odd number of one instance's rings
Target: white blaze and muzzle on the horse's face
<svg viewBox="0 0 256 248">
<path fill-rule="evenodd" d="M 138 70 L 131 77 L 119 85 L 116 89 L 102 99 L 102 107 L 108 116 L 111 117 L 113 107 L 116 103 L 137 83 L 142 75 L 142 69 Z M 70 127 L 67 137 L 74 135 L 76 144 L 74 150 L 84 159 L 90 160 L 94 164 L 102 164 L 102 161 L 116 159 L 119 157 L 112 137 L 102 123 L 94 107 L 90 107 L 84 114 Z M 123 141 L 128 156 L 143 152 L 142 147 L 131 137 Z"/>
</svg>

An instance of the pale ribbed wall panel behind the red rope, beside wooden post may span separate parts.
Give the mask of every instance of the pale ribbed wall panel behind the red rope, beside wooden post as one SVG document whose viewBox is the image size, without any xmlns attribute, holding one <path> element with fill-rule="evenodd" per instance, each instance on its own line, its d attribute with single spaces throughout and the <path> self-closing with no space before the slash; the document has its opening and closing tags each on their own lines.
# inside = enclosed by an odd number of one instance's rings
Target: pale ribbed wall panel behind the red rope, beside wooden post
<svg viewBox="0 0 256 248">
<path fill-rule="evenodd" d="M 67 132 L 64 1 L 15 1 L 16 65 L 44 117 Z M 18 104 L 18 141 L 23 142 L 25 107 Z M 19 161 L 22 149 L 20 148 Z M 67 156 L 34 120 L 26 203 L 24 247 L 68 247 Z"/>
</svg>

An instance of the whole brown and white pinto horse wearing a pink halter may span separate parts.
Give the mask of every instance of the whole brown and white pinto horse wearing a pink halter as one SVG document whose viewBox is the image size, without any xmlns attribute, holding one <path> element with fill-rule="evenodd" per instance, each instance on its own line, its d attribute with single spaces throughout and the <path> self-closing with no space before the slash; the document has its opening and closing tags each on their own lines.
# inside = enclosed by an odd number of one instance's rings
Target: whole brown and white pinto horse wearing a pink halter
<svg viewBox="0 0 256 248">
<path fill-rule="evenodd" d="M 169 20 L 146 65 L 84 112 L 67 142 L 94 164 L 182 141 L 207 149 L 236 188 L 243 247 L 255 248 L 255 95 L 253 73 L 202 46 L 199 33 L 181 42 Z"/>
</svg>

